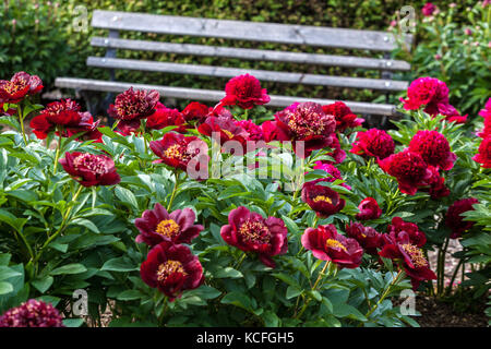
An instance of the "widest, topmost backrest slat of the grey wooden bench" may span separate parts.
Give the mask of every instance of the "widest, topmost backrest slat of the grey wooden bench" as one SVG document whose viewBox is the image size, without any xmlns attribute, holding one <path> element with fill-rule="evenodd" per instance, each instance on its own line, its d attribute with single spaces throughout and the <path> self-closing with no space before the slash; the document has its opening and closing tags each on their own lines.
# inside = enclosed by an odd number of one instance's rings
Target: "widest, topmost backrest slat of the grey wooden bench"
<svg viewBox="0 0 491 349">
<path fill-rule="evenodd" d="M 117 11 L 94 11 L 92 26 L 117 31 L 218 37 L 375 51 L 392 51 L 397 47 L 394 35 L 385 32 Z M 408 35 L 405 39 L 408 43 L 412 40 L 412 37 Z"/>
</svg>

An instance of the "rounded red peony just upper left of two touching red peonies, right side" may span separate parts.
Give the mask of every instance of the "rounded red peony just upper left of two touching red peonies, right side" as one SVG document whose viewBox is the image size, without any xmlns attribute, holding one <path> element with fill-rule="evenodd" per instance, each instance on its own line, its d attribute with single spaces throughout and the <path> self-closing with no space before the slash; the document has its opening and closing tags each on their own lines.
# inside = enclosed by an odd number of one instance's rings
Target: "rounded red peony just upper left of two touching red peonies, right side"
<svg viewBox="0 0 491 349">
<path fill-rule="evenodd" d="M 357 140 L 352 144 L 352 154 L 374 156 L 384 159 L 394 154 L 395 143 L 391 135 L 378 129 L 370 129 L 357 133 Z"/>
</svg>

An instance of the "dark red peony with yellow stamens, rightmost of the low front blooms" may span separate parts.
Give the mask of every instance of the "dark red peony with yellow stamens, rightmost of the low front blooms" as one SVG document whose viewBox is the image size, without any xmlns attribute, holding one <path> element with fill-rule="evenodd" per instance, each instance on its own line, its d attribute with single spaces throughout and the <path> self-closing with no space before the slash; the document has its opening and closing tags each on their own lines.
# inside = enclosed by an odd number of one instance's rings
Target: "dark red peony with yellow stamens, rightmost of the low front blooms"
<svg viewBox="0 0 491 349">
<path fill-rule="evenodd" d="M 429 268 L 429 264 L 421 249 L 410 242 L 409 236 L 400 233 L 397 239 L 387 238 L 379 255 L 400 260 L 403 268 L 411 278 L 412 289 L 416 290 L 423 280 L 434 280 L 436 275 Z"/>
</svg>

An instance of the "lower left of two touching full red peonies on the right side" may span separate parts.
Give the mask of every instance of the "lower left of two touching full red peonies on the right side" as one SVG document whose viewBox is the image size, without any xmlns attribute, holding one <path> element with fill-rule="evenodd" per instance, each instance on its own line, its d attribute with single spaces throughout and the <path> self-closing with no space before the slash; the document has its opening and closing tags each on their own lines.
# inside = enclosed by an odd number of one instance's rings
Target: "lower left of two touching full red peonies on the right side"
<svg viewBox="0 0 491 349">
<path fill-rule="evenodd" d="M 415 195 L 418 186 L 428 185 L 432 176 L 421 155 L 408 148 L 378 161 L 385 172 L 396 178 L 399 190 L 408 195 Z"/>
</svg>

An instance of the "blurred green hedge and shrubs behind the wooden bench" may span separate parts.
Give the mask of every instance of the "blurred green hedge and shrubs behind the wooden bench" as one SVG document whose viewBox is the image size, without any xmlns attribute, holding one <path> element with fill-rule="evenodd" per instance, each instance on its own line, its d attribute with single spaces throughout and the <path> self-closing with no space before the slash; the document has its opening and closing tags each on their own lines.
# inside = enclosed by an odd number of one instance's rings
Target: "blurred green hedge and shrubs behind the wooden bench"
<svg viewBox="0 0 491 349">
<path fill-rule="evenodd" d="M 441 8 L 446 8 L 451 1 L 435 2 Z M 411 1 L 418 17 L 416 44 L 424 45 L 424 39 L 434 41 L 428 31 L 421 29 L 421 8 L 426 1 Z M 452 23 L 457 27 L 468 22 L 468 9 L 476 1 L 460 0 L 456 3 Z M 75 9 L 84 5 L 88 13 L 88 27 L 77 32 L 73 23 L 80 15 Z M 91 79 L 108 79 L 108 73 L 101 69 L 87 68 L 85 60 L 88 56 L 103 56 L 104 49 L 89 46 L 94 35 L 107 35 L 104 31 L 92 29 L 89 26 L 92 11 L 95 9 L 119 10 L 129 12 L 145 12 L 153 14 L 169 14 L 197 17 L 213 17 L 227 20 L 242 20 L 256 22 L 275 22 L 302 25 L 322 25 L 331 27 L 387 31 L 391 21 L 396 17 L 396 11 L 404 5 L 400 1 L 393 0 L 68 0 L 60 2 L 34 1 L 34 0 L 4 0 L 0 3 L 0 79 L 9 79 L 13 72 L 26 71 L 38 74 L 45 82 L 46 91 L 53 88 L 57 76 L 76 76 Z M 490 8 L 490 7 L 488 7 Z M 488 23 L 489 26 L 489 23 Z M 431 34 L 431 33 L 430 33 Z M 254 47 L 263 49 L 282 49 L 291 51 L 307 51 L 330 55 L 351 55 L 381 57 L 381 53 L 338 50 L 331 48 L 308 48 L 294 45 L 277 45 L 267 43 L 242 43 L 225 39 L 197 38 L 197 37 L 171 37 L 154 34 L 122 33 L 124 38 L 170 40 L 173 43 L 194 43 L 207 45 L 221 45 L 231 47 Z M 430 44 L 430 43 L 429 43 Z M 434 43 L 433 43 L 434 45 Z M 428 46 L 429 51 L 419 50 L 414 56 L 404 56 L 400 51 L 393 55 L 411 61 L 414 69 L 409 73 L 395 74 L 394 79 L 411 81 L 417 76 L 436 75 L 429 64 L 428 58 L 433 57 L 431 50 L 438 50 Z M 177 55 L 164 55 L 152 52 L 119 51 L 120 58 L 137 58 L 145 60 L 170 60 L 181 63 L 214 64 L 223 67 L 240 67 L 244 69 L 266 69 L 278 71 L 296 71 L 316 74 L 380 77 L 378 71 L 352 70 L 336 67 L 304 67 L 302 64 L 242 61 L 238 59 L 223 59 L 214 57 L 187 57 Z M 431 62 L 430 62 L 431 63 Z M 431 65 L 431 64 L 430 64 Z M 460 67 L 462 68 L 462 67 Z M 486 68 L 486 67 L 484 67 Z M 462 70 L 462 69 L 460 69 Z M 464 73 L 468 74 L 464 70 Z M 488 72 L 489 74 L 489 72 Z M 439 76 L 435 76 L 439 77 Z M 448 76 L 445 76 L 448 79 Z M 482 76 L 487 79 L 487 76 Z M 489 75 L 488 75 L 489 77 Z M 195 75 L 178 75 L 164 73 L 145 73 L 137 71 L 120 71 L 117 80 L 125 82 L 139 82 L 171 86 L 202 87 L 221 89 L 227 79 L 215 79 Z M 489 81 L 489 79 L 488 79 Z M 452 92 L 452 82 L 446 81 Z M 295 84 L 276 84 L 264 82 L 264 87 L 271 94 L 297 95 L 306 97 L 332 98 L 344 100 L 385 101 L 380 92 L 355 91 L 337 87 L 300 86 Z M 462 91 L 468 87 L 462 88 Z M 486 94 L 484 86 L 484 94 Z M 488 88 L 489 91 L 489 88 Z M 397 103 L 398 96 L 392 96 L 391 101 Z M 460 95 L 462 97 L 462 95 Z M 482 99 L 483 97 L 479 97 Z M 464 106 L 453 100 L 457 109 Z M 476 112 L 481 108 L 472 105 L 464 106 L 463 112 Z"/>
</svg>

